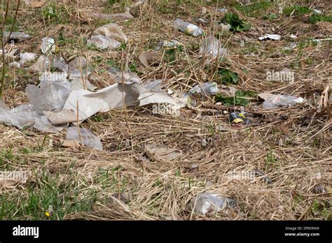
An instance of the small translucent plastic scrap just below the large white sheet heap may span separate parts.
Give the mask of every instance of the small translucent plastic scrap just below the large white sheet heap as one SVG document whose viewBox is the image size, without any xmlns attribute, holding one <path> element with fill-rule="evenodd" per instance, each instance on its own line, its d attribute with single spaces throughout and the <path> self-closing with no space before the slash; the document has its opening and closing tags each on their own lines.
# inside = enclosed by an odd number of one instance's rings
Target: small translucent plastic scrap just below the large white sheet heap
<svg viewBox="0 0 332 243">
<path fill-rule="evenodd" d="M 91 131 L 86 128 L 80 128 L 80 133 L 83 145 L 102 150 L 102 142 L 100 142 L 100 138 L 94 135 Z M 71 126 L 67 129 L 66 140 L 80 141 L 80 135 L 78 134 L 78 129 L 76 126 Z"/>
</svg>

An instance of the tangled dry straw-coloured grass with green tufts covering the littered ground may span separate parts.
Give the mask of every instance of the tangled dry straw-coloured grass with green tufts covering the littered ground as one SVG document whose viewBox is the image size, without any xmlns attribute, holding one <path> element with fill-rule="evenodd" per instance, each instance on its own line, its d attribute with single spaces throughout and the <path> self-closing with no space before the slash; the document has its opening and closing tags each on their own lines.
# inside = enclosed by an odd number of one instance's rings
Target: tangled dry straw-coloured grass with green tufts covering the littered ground
<svg viewBox="0 0 332 243">
<path fill-rule="evenodd" d="M 25 183 L 0 184 L 0 219 L 331 220 L 331 98 L 317 112 L 321 94 L 331 85 L 331 42 L 312 42 L 313 38 L 331 37 L 331 22 L 312 24 L 305 14 L 278 14 L 276 3 L 270 1 L 244 6 L 219 1 L 219 8 L 232 10 L 252 27 L 223 34 L 228 61 L 211 61 L 199 57 L 201 38 L 174 30 L 173 21 L 181 17 L 195 22 L 205 17 L 210 23 L 202 24 L 202 29 L 211 33 L 219 21 L 214 15 L 216 1 L 151 0 L 137 10 L 134 19 L 117 21 L 130 38 L 127 45 L 114 51 L 82 46 L 81 38 L 88 38 L 95 27 L 107 23 L 92 18 L 92 11 L 123 13 L 125 3 L 130 5 L 129 1 L 111 2 L 97 7 L 53 2 L 29 8 L 22 4 L 17 30 L 34 38 L 18 45 L 21 50 L 40 54 L 41 38 L 55 38 L 58 53 L 88 59 L 95 68 L 90 82 L 98 89 L 114 83 L 105 72 L 109 66 L 130 66 L 142 80 L 160 78 L 162 89 L 178 94 L 198 83 L 219 82 L 214 73 L 224 67 L 238 74 L 238 82 L 229 84 L 237 89 L 301 96 L 305 103 L 264 110 L 254 96 L 244 107 L 251 123 L 242 128 L 233 128 L 223 112 L 240 107 L 214 105 L 212 98 L 195 108 L 181 108 L 179 117 L 155 115 L 149 106 L 112 110 L 82 124 L 101 138 L 103 151 L 64 149 L 59 141 L 65 132 L 43 134 L 0 124 L 1 170 L 33 172 Z M 295 3 L 285 1 L 284 8 Z M 53 7 L 54 15 L 46 15 L 48 6 Z M 305 6 L 331 15 L 328 0 L 307 1 Z M 202 7 L 207 13 L 202 14 Z M 265 19 L 263 13 L 279 17 Z M 283 38 L 258 42 L 266 33 Z M 285 51 L 283 48 L 293 42 L 284 37 L 289 34 L 298 36 L 298 47 Z M 150 68 L 139 62 L 141 51 L 170 39 L 184 43 L 184 48 L 175 52 L 174 61 L 164 58 L 159 66 Z M 245 40 L 243 46 L 241 40 Z M 266 82 L 267 69 L 282 68 L 294 71 L 295 82 Z M 39 80 L 38 75 L 24 70 L 9 70 L 6 83 L 4 101 L 15 107 L 27 102 L 27 84 Z M 183 154 L 175 161 L 151 161 L 144 154 L 145 145 L 181 149 Z M 261 177 L 230 179 L 228 173 L 233 170 L 260 170 L 271 183 Z M 234 210 L 207 216 L 195 214 L 189 202 L 204 191 L 233 198 L 237 205 Z"/>
</svg>

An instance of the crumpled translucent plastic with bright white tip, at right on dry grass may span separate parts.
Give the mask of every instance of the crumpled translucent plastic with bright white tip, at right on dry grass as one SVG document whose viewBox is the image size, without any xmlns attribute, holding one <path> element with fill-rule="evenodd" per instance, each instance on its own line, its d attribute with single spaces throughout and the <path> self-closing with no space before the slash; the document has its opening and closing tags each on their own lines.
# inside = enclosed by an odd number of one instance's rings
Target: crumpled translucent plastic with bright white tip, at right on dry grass
<svg viewBox="0 0 332 243">
<path fill-rule="evenodd" d="M 264 109 L 286 108 L 291 105 L 303 103 L 304 99 L 296 96 L 286 96 L 282 94 L 261 93 L 259 97 L 265 100 L 263 102 Z"/>
</svg>

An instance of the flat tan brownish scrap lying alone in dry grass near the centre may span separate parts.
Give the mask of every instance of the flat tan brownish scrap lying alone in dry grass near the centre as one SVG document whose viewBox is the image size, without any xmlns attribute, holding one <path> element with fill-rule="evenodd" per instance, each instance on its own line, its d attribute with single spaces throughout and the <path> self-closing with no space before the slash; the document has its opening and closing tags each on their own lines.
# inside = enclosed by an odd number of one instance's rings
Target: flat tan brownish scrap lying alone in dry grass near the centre
<svg viewBox="0 0 332 243">
<path fill-rule="evenodd" d="M 182 155 L 179 149 L 170 149 L 164 147 L 155 147 L 155 145 L 146 145 L 146 155 L 155 161 L 173 161 Z"/>
</svg>

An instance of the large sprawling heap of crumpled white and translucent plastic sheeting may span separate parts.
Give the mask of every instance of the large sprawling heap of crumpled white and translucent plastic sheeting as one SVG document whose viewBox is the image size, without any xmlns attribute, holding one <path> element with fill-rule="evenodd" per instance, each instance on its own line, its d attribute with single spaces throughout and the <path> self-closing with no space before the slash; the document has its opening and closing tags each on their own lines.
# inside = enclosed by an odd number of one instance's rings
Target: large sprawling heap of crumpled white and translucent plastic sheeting
<svg viewBox="0 0 332 243">
<path fill-rule="evenodd" d="M 82 89 L 83 84 L 82 86 L 77 84 L 76 89 L 73 90 L 72 82 L 76 80 L 75 82 L 78 83 L 82 78 L 81 71 L 77 70 L 78 66 L 85 66 L 86 60 L 80 57 L 80 59 L 71 61 L 68 66 L 62 57 L 53 57 L 51 54 L 50 58 L 53 59 L 51 61 L 53 68 L 58 68 L 63 73 L 41 73 L 40 87 L 29 85 L 26 89 L 26 94 L 29 98 L 28 104 L 9 110 L 2 103 L 0 106 L 1 123 L 17 126 L 18 128 L 28 126 L 43 132 L 57 132 L 67 128 L 67 121 L 74 122 L 73 112 L 77 116 L 77 102 L 79 121 L 88 119 L 97 112 L 107 112 L 123 107 L 123 105 L 142 106 L 150 103 L 169 103 L 174 105 L 175 108 L 181 108 L 185 105 L 184 101 L 177 101 L 176 98 L 162 91 L 160 89 L 160 80 L 147 84 L 145 87 L 141 84 L 137 74 L 129 70 L 121 72 L 118 68 L 110 68 L 109 70 L 110 76 L 118 82 L 116 84 L 97 92 Z M 48 60 L 48 57 L 43 57 L 42 61 L 45 61 L 45 63 L 42 66 L 46 66 Z M 68 70 L 68 67 L 70 75 L 74 76 L 71 82 L 67 80 L 67 73 L 65 72 Z M 85 72 L 85 69 L 82 73 Z M 124 80 L 123 83 L 122 80 Z M 123 101 L 125 102 L 123 103 Z M 70 113 L 70 119 L 62 119 L 66 114 L 64 110 L 73 111 Z M 51 115 L 56 118 L 51 119 L 53 123 L 48 119 Z M 60 124 L 60 120 L 63 120 L 66 124 Z"/>
</svg>

